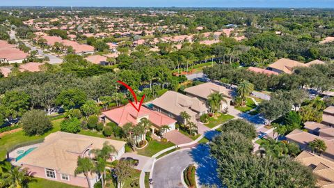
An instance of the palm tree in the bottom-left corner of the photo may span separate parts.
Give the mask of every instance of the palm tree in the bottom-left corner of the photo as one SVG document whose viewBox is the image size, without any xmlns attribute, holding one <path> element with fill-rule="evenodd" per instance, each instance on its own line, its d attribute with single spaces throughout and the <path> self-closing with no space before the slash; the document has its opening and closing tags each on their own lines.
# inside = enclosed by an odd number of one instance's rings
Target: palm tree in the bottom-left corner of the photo
<svg viewBox="0 0 334 188">
<path fill-rule="evenodd" d="M 1 169 L 3 174 L 0 185 L 3 184 L 5 187 L 26 187 L 26 184 L 32 180 L 32 177 L 28 175 L 28 169 L 22 169 L 22 166 L 13 166 L 10 162 L 5 162 Z"/>
</svg>

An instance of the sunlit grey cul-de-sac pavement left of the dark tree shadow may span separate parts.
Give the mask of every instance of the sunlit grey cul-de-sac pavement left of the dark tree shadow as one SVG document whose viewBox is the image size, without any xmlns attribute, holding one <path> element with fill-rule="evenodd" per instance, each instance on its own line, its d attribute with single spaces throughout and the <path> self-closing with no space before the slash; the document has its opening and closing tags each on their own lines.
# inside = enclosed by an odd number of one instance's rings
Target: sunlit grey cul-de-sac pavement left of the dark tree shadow
<svg viewBox="0 0 334 188">
<path fill-rule="evenodd" d="M 189 154 L 189 149 L 173 152 L 163 157 L 154 164 L 152 179 L 154 188 L 183 187 L 181 182 L 181 174 L 186 166 L 193 163 L 193 159 Z"/>
</svg>

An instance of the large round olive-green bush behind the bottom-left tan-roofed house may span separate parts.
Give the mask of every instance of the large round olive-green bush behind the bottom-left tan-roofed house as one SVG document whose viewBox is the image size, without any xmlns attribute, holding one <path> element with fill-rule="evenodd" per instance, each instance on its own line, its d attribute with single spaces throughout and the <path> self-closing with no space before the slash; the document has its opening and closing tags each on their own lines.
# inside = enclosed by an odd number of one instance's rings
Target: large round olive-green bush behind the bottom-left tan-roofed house
<svg viewBox="0 0 334 188">
<path fill-rule="evenodd" d="M 26 134 L 33 136 L 36 134 L 42 135 L 52 129 L 52 123 L 49 116 L 42 110 L 33 109 L 27 111 L 22 116 L 20 123 Z"/>
</svg>

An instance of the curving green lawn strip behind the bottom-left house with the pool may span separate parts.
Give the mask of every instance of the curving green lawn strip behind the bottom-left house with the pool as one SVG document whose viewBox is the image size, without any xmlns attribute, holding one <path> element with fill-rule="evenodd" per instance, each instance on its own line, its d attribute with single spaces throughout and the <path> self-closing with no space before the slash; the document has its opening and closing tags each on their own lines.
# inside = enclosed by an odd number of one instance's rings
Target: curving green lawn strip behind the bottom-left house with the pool
<svg viewBox="0 0 334 188">
<path fill-rule="evenodd" d="M 5 136 L 2 136 L 0 139 L 0 146 L 1 146 L 0 147 L 0 160 L 2 161 L 3 159 L 6 159 L 6 150 L 8 148 L 11 148 L 22 142 L 42 139 L 45 136 L 51 134 L 52 132 L 57 132 L 61 130 L 61 128 L 59 127 L 61 123 L 61 119 L 54 120 L 52 121 L 52 123 L 54 124 L 54 128 L 41 136 L 27 136 L 26 134 L 24 134 L 23 131 L 14 132 L 12 134 L 6 134 Z"/>
</svg>

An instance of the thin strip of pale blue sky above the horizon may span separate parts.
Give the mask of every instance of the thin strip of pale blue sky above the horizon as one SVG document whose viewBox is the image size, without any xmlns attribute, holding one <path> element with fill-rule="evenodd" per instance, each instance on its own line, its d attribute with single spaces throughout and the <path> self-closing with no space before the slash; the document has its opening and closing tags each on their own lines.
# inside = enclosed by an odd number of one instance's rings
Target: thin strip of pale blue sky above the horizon
<svg viewBox="0 0 334 188">
<path fill-rule="evenodd" d="M 334 8 L 334 0 L 0 0 L 0 6 Z"/>
</svg>

